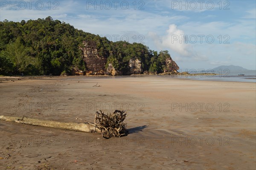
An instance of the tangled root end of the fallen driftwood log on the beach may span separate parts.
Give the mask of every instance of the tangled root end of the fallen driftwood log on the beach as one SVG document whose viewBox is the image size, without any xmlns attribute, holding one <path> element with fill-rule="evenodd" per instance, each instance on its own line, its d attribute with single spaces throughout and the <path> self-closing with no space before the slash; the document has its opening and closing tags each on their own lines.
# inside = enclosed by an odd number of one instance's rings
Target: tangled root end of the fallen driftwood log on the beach
<svg viewBox="0 0 256 170">
<path fill-rule="evenodd" d="M 126 123 L 123 123 L 125 117 L 125 111 L 115 110 L 110 114 L 104 114 L 101 110 L 100 113 L 96 111 L 95 127 L 102 131 L 102 137 L 105 139 L 109 139 L 112 136 L 127 136 L 128 130 L 126 129 Z"/>
</svg>

